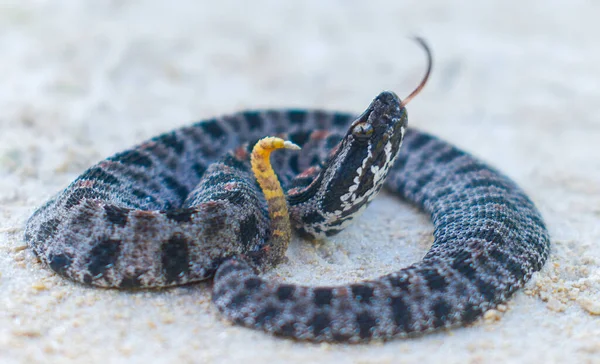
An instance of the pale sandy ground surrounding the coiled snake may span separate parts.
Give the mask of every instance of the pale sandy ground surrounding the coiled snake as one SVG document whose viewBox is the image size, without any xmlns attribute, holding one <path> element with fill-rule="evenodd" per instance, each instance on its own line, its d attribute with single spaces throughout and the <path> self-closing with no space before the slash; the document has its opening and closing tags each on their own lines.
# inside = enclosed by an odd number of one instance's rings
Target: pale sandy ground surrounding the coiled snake
<svg viewBox="0 0 600 364">
<path fill-rule="evenodd" d="M 599 15 L 578 0 L 3 1 L 0 362 L 600 362 Z M 504 312 L 386 344 L 296 343 L 222 321 L 209 284 L 87 288 L 25 246 L 36 206 L 157 133 L 243 108 L 360 112 L 382 89 L 405 95 L 424 68 L 411 34 L 436 62 L 411 125 L 514 178 L 552 234 L 551 260 Z M 431 231 L 383 196 L 336 238 L 294 241 L 269 275 L 376 277 L 418 260 Z"/>
</svg>

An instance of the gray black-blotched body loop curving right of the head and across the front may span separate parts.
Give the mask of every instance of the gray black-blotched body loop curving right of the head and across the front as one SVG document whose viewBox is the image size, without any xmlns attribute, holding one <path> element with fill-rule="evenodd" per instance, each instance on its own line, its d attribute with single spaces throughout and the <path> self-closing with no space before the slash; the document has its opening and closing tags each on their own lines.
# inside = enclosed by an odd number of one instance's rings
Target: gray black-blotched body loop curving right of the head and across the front
<svg viewBox="0 0 600 364">
<path fill-rule="evenodd" d="M 540 270 L 549 237 L 507 177 L 431 135 L 408 130 L 386 188 L 433 219 L 423 260 L 337 287 L 265 281 L 243 260 L 221 265 L 213 301 L 228 319 L 309 341 L 367 342 L 472 323 Z"/>
</svg>

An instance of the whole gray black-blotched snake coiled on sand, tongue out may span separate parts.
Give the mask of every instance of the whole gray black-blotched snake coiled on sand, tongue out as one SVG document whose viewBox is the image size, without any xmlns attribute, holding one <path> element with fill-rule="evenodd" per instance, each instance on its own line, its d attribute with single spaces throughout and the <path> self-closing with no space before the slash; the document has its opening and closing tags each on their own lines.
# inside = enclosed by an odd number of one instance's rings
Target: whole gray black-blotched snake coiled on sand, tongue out
<svg viewBox="0 0 600 364">
<path fill-rule="evenodd" d="M 25 240 L 52 270 L 88 285 L 214 277 L 212 300 L 227 319 L 299 340 L 367 342 L 469 324 L 541 269 L 549 236 L 509 178 L 407 128 L 405 105 L 431 69 L 421 43 L 429 69 L 404 102 L 382 92 L 358 117 L 246 111 L 159 135 L 85 171 L 31 216 Z M 250 165 L 266 135 L 302 147 L 272 157 L 285 197 L 276 177 L 263 193 Z M 255 172 L 268 179 L 265 153 Z M 332 236 L 383 187 L 431 216 L 434 242 L 421 261 L 336 287 L 259 276 L 284 259 L 289 234 L 279 226 L 291 221 L 301 236 Z M 289 220 L 278 214 L 286 201 Z"/>
</svg>

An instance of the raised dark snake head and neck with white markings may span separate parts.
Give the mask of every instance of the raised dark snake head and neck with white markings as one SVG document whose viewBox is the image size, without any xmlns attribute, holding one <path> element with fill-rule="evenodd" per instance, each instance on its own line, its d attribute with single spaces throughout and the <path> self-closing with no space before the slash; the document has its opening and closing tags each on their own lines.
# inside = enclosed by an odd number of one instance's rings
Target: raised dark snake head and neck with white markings
<svg viewBox="0 0 600 364">
<path fill-rule="evenodd" d="M 304 235 L 340 232 L 377 195 L 393 166 L 406 130 L 406 109 L 393 92 L 379 94 L 351 125 L 313 183 L 293 204 L 304 205 Z M 303 216 L 316 216 L 311 221 Z"/>
</svg>

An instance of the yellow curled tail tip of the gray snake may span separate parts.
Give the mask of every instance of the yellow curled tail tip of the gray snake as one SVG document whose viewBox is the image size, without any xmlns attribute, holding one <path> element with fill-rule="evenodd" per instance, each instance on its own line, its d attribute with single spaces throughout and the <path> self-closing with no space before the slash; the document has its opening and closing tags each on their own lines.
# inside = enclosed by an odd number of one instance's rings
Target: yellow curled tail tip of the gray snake
<svg viewBox="0 0 600 364">
<path fill-rule="evenodd" d="M 292 237 L 285 193 L 271 166 L 271 153 L 277 149 L 298 150 L 300 147 L 281 138 L 265 137 L 254 145 L 251 156 L 252 172 L 265 195 L 271 219 L 271 238 L 266 246 L 270 250 L 268 263 L 271 266 L 281 262 Z"/>
</svg>

